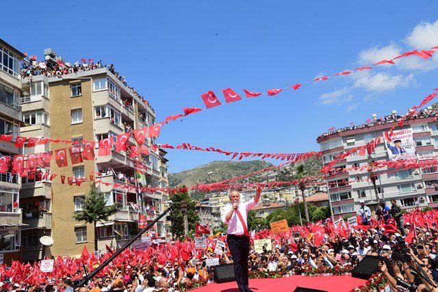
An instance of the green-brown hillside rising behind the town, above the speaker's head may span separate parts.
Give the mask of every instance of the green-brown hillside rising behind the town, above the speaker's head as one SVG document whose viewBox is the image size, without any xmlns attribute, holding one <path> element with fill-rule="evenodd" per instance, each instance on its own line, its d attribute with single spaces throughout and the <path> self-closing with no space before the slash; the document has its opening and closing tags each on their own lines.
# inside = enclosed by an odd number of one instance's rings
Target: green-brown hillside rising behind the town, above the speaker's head
<svg viewBox="0 0 438 292">
<path fill-rule="evenodd" d="M 242 176 L 250 172 L 270 168 L 274 166 L 272 163 L 256 160 L 256 161 L 213 161 L 205 165 L 198 166 L 192 170 L 184 170 L 175 174 L 168 174 L 169 186 L 177 187 L 185 185 L 187 187 L 198 183 L 214 183 L 225 179 Z M 209 174 L 211 172 L 211 174 Z M 269 174 L 269 173 L 268 173 Z M 255 177 L 250 177 L 249 181 L 264 181 L 260 176 L 268 176 L 267 173 L 259 174 Z"/>
</svg>

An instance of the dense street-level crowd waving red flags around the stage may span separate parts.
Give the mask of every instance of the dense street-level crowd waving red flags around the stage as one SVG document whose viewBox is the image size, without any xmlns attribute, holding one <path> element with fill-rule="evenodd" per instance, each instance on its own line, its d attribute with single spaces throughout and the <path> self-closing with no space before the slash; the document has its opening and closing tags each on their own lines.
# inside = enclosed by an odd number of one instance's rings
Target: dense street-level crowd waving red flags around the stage
<svg viewBox="0 0 438 292">
<path fill-rule="evenodd" d="M 292 276 L 323 271 L 351 272 L 366 256 L 381 256 L 378 266 L 394 291 L 438 291 L 438 211 L 415 210 L 404 213 L 381 206 L 378 217 L 370 215 L 356 226 L 339 218 L 306 226 L 292 226 L 287 233 L 273 235 L 272 230 L 253 230 L 250 237 L 248 269 L 250 277 L 260 275 Z M 394 208 L 391 208 L 394 209 Z M 399 218 L 394 221 L 394 218 Z M 397 227 L 400 224 L 399 228 Z M 344 227 L 342 227 L 344 226 Z M 324 230 L 322 238 L 317 231 Z M 403 236 L 405 235 L 405 236 Z M 271 244 L 257 250 L 259 239 Z M 218 241 L 225 236 L 207 237 L 207 248 L 195 249 L 194 242 L 151 242 L 147 250 L 125 250 L 85 287 L 76 287 L 84 273 L 95 269 L 112 254 L 109 250 L 96 258 L 82 253 L 81 258 L 58 258 L 52 273 L 39 275 L 38 265 L 14 262 L 0 265 L 1 291 L 180 291 L 214 282 L 216 264 L 233 263 L 227 246 L 217 252 Z M 211 259 L 217 258 L 213 264 Z M 82 265 L 83 263 L 83 265 Z M 21 276 L 16 275 L 21 271 Z M 73 288 L 75 287 L 75 288 Z"/>
</svg>

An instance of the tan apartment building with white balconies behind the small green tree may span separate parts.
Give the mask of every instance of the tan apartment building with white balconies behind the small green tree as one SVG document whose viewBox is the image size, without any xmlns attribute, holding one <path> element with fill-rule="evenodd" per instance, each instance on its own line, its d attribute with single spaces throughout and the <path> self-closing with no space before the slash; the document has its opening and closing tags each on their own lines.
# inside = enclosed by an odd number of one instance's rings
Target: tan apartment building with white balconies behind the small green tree
<svg viewBox="0 0 438 292">
<path fill-rule="evenodd" d="M 44 50 L 44 55 L 54 62 L 60 59 L 51 49 Z M 68 157 L 68 166 L 59 168 L 52 159 L 50 168 L 38 170 L 57 174 L 55 183 L 39 178 L 23 183 L 29 204 L 44 203 L 43 212 L 38 214 L 38 223 L 26 233 L 31 239 L 43 235 L 53 238 L 53 245 L 48 247 L 32 246 L 29 240 L 29 244 L 23 247 L 27 250 L 27 260 L 80 254 L 83 245 L 87 245 L 89 251 L 94 250 L 92 224 L 73 219 L 74 212 L 81 210 L 82 200 L 91 188 L 104 194 L 107 205 L 117 203 L 119 206 L 108 222 L 97 225 L 99 250 L 103 251 L 105 245 L 114 249 L 138 233 L 139 214 L 146 214 L 148 222 L 151 222 L 168 207 L 166 194 L 140 191 L 141 187 L 167 187 L 166 152 L 151 147 L 155 139 L 145 139 L 144 145 L 149 146 L 150 153 L 137 159 L 144 168 L 144 174 L 135 171 L 134 159 L 129 157 L 129 152 L 115 150 L 117 135 L 152 125 L 155 111 L 120 81 L 114 70 L 103 67 L 61 77 L 38 75 L 31 80 L 23 80 L 23 88 L 29 92 L 21 102 L 25 109 L 23 121 L 27 123 L 22 128 L 23 135 L 68 140 L 75 142 L 81 151 L 84 150 L 83 140 L 96 142 L 94 161 L 83 160 L 73 164 Z M 113 148 L 110 155 L 99 156 L 99 141 L 105 138 L 112 138 Z M 137 145 L 137 142 L 131 136 L 128 144 Z M 44 152 L 68 146 L 51 142 L 25 151 Z M 99 183 L 89 180 L 90 174 Z M 88 181 L 70 186 L 60 183 L 60 176 L 79 180 L 86 178 Z M 34 214 L 31 216 L 35 220 Z M 162 218 L 155 232 L 164 238 L 169 237 L 166 226 L 168 224 Z"/>
</svg>

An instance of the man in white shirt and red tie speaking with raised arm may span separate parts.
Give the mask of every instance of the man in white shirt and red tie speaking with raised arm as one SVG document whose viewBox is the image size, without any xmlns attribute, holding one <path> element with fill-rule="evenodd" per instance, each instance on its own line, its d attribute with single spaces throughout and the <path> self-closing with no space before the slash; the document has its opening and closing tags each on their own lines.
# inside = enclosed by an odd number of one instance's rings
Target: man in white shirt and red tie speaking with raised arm
<svg viewBox="0 0 438 292">
<path fill-rule="evenodd" d="M 247 224 L 248 211 L 259 203 L 261 187 L 255 189 L 255 198 L 240 202 L 237 190 L 230 192 L 231 204 L 224 206 L 220 212 L 222 222 L 227 225 L 227 243 L 234 263 L 234 274 L 240 292 L 253 292 L 248 287 L 249 233 Z"/>
</svg>

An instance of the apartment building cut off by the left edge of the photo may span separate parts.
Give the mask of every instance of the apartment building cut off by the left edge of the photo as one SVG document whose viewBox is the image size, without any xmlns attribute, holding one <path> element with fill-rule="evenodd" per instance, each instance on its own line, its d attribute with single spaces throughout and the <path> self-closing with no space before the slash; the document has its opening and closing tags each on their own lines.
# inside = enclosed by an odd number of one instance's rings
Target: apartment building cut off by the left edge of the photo
<svg viewBox="0 0 438 292">
<path fill-rule="evenodd" d="M 0 39 L 0 135 L 20 135 L 21 77 L 20 63 L 23 53 Z M 14 140 L 0 141 L 0 157 L 13 158 L 21 149 Z M 0 256 L 3 263 L 21 260 L 21 228 L 23 218 L 20 208 L 21 178 L 8 172 L 0 174 Z"/>
</svg>

